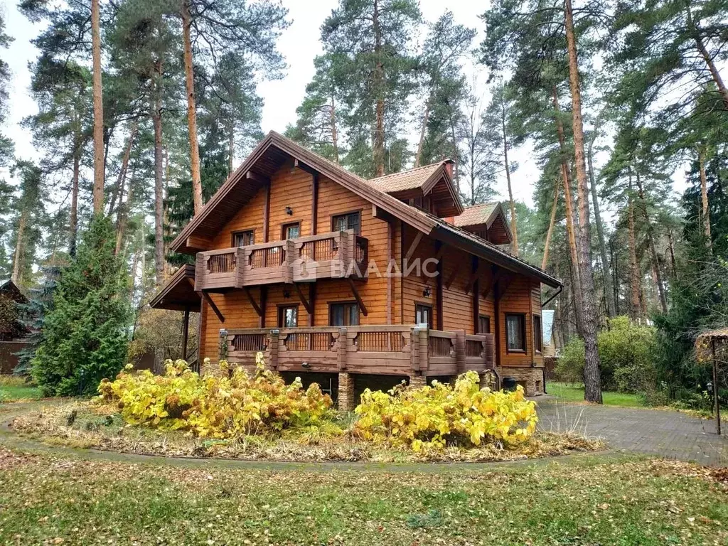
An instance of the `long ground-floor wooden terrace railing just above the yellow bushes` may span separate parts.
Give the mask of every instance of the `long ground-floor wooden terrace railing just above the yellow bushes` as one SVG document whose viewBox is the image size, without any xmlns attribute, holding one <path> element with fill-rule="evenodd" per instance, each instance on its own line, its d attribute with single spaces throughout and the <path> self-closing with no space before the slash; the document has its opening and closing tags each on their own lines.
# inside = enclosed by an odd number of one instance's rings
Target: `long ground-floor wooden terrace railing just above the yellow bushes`
<svg viewBox="0 0 728 546">
<path fill-rule="evenodd" d="M 277 371 L 454 376 L 494 369 L 493 334 L 414 325 L 221 330 L 230 363 L 253 370 L 256 353 Z"/>
</svg>

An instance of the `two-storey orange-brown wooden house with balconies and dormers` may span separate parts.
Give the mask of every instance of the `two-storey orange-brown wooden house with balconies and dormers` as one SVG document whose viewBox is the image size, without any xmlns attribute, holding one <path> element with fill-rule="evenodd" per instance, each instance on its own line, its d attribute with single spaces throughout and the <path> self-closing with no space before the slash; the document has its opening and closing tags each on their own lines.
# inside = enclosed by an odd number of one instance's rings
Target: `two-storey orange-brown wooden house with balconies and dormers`
<svg viewBox="0 0 728 546">
<path fill-rule="evenodd" d="M 151 305 L 201 313 L 199 360 L 364 388 L 475 370 L 543 390 L 541 285 L 499 203 L 463 207 L 452 162 L 365 180 L 270 132 L 173 241 L 195 256 Z M 205 371 L 205 370 L 203 370 Z"/>
</svg>

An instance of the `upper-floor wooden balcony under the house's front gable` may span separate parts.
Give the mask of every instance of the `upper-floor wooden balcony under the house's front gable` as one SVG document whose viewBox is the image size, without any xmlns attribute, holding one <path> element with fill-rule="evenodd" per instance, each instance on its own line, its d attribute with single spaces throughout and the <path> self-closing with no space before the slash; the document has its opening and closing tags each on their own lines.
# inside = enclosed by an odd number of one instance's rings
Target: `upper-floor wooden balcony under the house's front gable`
<svg viewBox="0 0 728 546">
<path fill-rule="evenodd" d="M 368 240 L 352 232 L 197 253 L 195 290 L 223 291 L 330 278 L 363 278 Z"/>
</svg>

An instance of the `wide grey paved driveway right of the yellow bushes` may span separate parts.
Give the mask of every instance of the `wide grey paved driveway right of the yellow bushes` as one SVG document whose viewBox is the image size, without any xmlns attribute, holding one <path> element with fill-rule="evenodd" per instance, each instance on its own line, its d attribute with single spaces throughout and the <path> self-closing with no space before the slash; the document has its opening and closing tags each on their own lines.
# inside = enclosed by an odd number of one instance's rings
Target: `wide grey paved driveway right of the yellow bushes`
<svg viewBox="0 0 728 546">
<path fill-rule="evenodd" d="M 543 430 L 573 430 L 601 438 L 612 449 L 728 466 L 727 431 L 719 438 L 714 420 L 677 411 L 569 404 L 553 398 L 534 400 Z"/>
</svg>

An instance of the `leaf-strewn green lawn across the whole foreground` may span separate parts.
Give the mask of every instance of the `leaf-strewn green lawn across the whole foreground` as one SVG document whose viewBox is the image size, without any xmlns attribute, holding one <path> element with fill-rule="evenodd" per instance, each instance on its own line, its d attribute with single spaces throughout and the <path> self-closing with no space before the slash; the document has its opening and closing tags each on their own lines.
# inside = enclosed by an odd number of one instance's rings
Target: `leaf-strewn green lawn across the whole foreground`
<svg viewBox="0 0 728 546">
<path fill-rule="evenodd" d="M 0 448 L 0 543 L 657 546 L 728 540 L 728 493 L 719 481 L 725 475 L 678 462 L 592 455 L 433 473 L 184 464 Z"/>
</svg>

